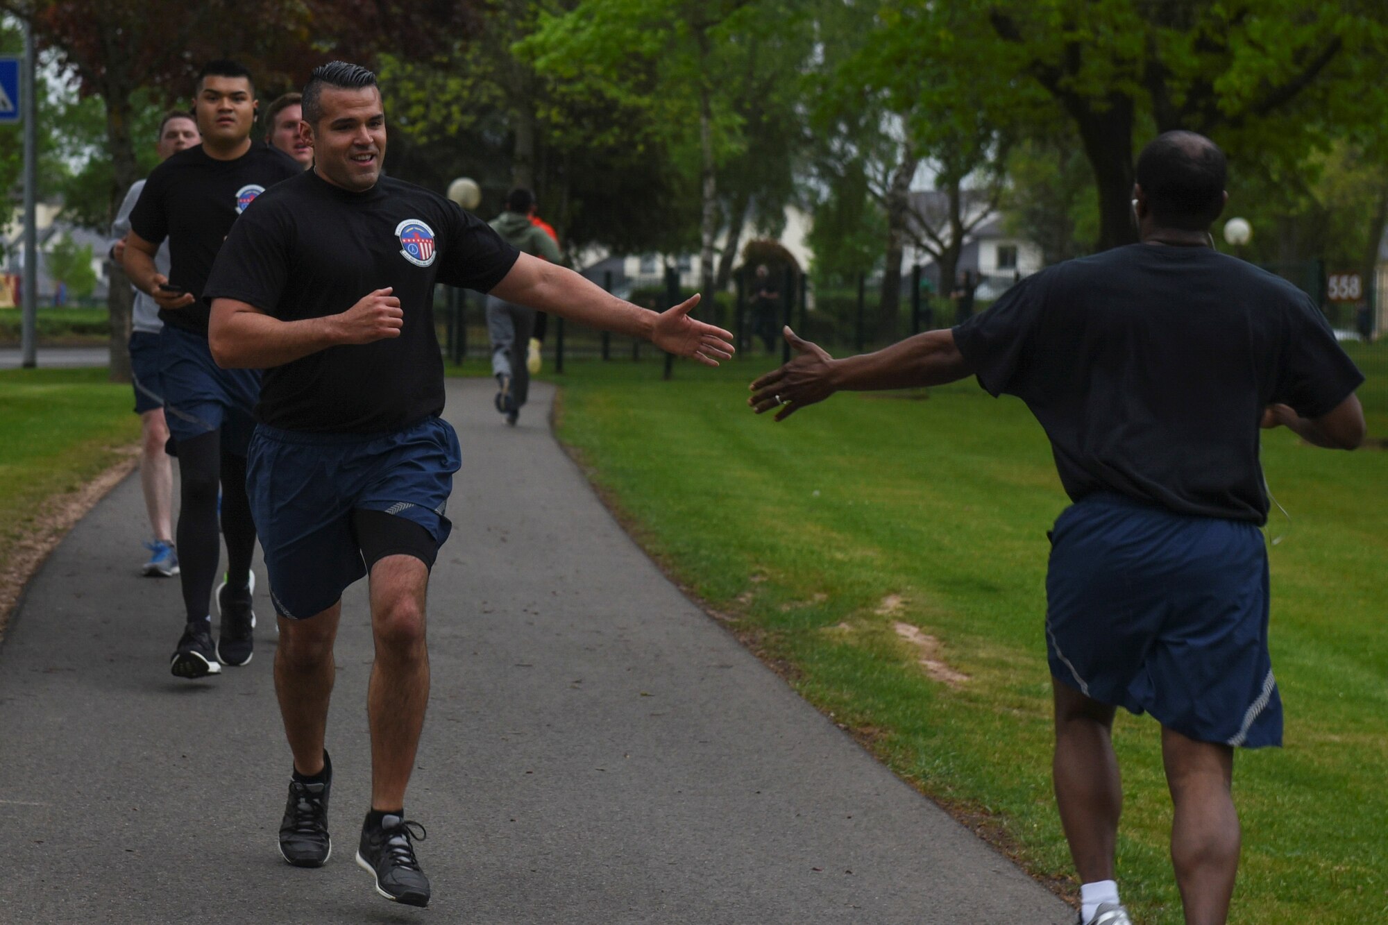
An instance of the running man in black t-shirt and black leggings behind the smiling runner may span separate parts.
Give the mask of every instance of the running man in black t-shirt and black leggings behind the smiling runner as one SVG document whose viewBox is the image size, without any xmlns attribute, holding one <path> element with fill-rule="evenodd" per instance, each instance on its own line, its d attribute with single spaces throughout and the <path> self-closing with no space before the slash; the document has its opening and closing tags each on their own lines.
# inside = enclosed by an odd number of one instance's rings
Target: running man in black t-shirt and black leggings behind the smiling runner
<svg viewBox="0 0 1388 925">
<path fill-rule="evenodd" d="M 164 404 L 179 460 L 178 551 L 185 628 L 171 671 L 180 678 L 215 675 L 221 665 L 251 660 L 255 614 L 251 554 L 255 525 L 246 500 L 246 446 L 260 374 L 219 369 L 207 349 L 203 288 L 217 251 L 237 215 L 282 179 L 301 172 L 297 162 L 264 142 L 251 140 L 255 88 L 235 61 L 211 61 L 197 78 L 193 104 L 203 143 L 180 151 L 150 174 L 130 212 L 125 272 L 160 306 Z M 169 242 L 169 275 L 154 265 Z M 218 485 L 221 535 L 228 569 L 217 589 L 221 631 L 212 644 L 210 597 L 217 562 Z"/>
</svg>

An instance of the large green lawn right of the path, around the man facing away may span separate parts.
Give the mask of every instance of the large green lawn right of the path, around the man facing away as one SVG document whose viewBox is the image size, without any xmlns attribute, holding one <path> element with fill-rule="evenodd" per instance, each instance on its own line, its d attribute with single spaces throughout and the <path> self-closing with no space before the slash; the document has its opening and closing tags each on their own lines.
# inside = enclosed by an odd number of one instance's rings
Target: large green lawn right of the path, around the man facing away
<svg viewBox="0 0 1388 925">
<path fill-rule="evenodd" d="M 775 425 L 744 404 L 770 365 L 680 362 L 668 383 L 657 362 L 573 362 L 555 379 L 561 438 L 644 546 L 805 697 L 1033 874 L 1069 876 L 1042 638 L 1045 531 L 1067 500 L 1040 426 L 972 381 L 841 394 Z M 1231 921 L 1388 921 L 1388 453 L 1276 431 L 1263 460 L 1292 518 L 1270 524 L 1287 747 L 1237 761 Z M 897 621 L 969 679 L 927 678 Z M 1158 728 L 1122 714 L 1116 742 L 1124 900 L 1140 922 L 1180 922 Z"/>
</svg>

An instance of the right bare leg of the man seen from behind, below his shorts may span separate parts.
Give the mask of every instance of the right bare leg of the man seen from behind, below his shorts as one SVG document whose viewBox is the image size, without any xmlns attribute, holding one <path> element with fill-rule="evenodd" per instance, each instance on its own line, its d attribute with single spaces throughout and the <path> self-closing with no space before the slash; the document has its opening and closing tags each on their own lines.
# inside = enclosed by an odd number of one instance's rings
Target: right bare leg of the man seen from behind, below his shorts
<svg viewBox="0 0 1388 925">
<path fill-rule="evenodd" d="M 1162 758 L 1176 815 L 1171 864 L 1185 925 L 1224 925 L 1238 874 L 1234 749 L 1162 729 Z"/>
</svg>

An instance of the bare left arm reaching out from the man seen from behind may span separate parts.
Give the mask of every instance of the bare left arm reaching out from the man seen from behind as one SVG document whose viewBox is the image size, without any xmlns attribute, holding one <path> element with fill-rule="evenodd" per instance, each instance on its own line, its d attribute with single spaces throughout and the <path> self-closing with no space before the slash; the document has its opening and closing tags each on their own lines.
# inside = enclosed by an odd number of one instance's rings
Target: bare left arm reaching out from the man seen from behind
<svg viewBox="0 0 1388 925">
<path fill-rule="evenodd" d="M 756 414 L 779 407 L 777 421 L 836 392 L 912 389 L 973 375 L 949 329 L 927 331 L 876 353 L 845 360 L 834 360 L 790 328 L 786 328 L 786 340 L 798 356 L 754 382 L 752 397 L 747 400 Z"/>
</svg>

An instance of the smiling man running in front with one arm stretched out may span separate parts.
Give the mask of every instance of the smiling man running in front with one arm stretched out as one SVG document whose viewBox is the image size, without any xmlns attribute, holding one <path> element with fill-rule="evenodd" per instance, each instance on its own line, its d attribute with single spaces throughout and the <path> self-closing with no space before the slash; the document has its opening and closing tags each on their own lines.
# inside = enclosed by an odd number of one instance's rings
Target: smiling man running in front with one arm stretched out
<svg viewBox="0 0 1388 925">
<path fill-rule="evenodd" d="M 386 118 L 371 71 L 333 62 L 304 88 L 314 169 L 266 192 L 232 229 L 204 297 L 225 367 L 265 369 L 248 482 L 279 611 L 275 689 L 294 756 L 280 853 L 328 860 L 323 750 L 341 592 L 371 575 L 371 812 L 357 862 L 387 899 L 425 906 L 404 799 L 429 661 L 425 590 L 461 465 L 443 411 L 436 282 L 654 340 L 716 365 L 731 335 L 657 314 L 520 254 L 441 196 L 380 175 Z"/>
</svg>

